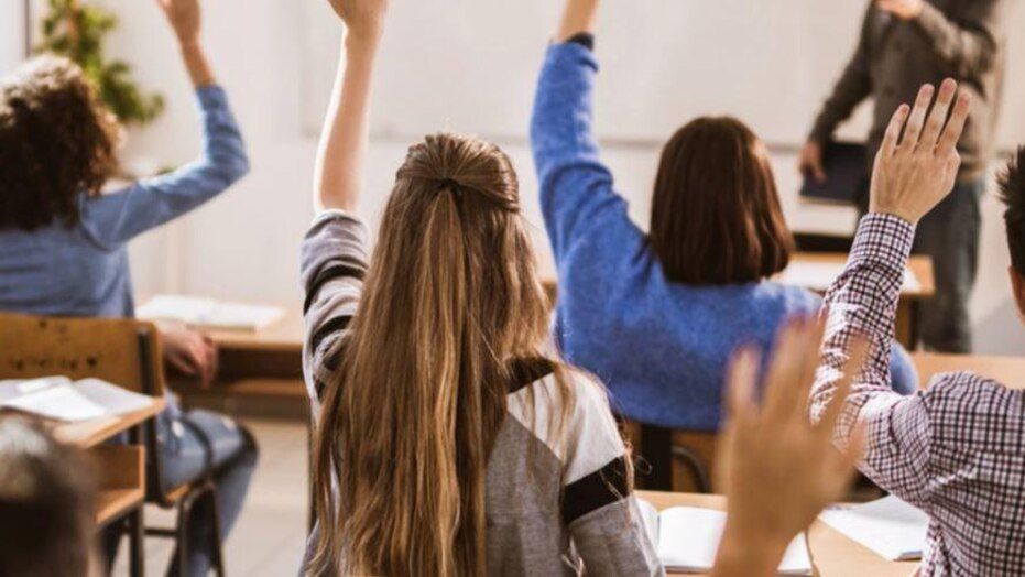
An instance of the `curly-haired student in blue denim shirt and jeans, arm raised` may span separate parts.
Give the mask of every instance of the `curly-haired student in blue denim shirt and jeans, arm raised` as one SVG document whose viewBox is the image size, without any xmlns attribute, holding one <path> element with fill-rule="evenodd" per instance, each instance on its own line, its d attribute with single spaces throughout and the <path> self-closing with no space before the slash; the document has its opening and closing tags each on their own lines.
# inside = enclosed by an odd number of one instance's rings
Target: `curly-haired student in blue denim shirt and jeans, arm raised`
<svg viewBox="0 0 1025 577">
<path fill-rule="evenodd" d="M 197 0 L 156 0 L 178 40 L 199 108 L 203 148 L 192 163 L 127 188 L 101 193 L 117 164 L 121 128 L 83 72 L 35 58 L 0 84 L 0 309 L 34 315 L 134 315 L 127 243 L 227 190 L 249 170 L 227 96 L 200 39 Z M 161 335 L 168 363 L 208 382 L 216 355 L 201 335 Z M 160 418 L 161 479 L 177 487 L 216 469 L 220 527 L 227 534 L 257 460 L 251 436 L 223 415 L 184 413 L 173 399 Z M 204 437 L 207 439 L 205 440 Z M 214 450 L 207 455 L 209 443 Z M 210 515 L 189 520 L 188 574 L 211 560 Z"/>
</svg>

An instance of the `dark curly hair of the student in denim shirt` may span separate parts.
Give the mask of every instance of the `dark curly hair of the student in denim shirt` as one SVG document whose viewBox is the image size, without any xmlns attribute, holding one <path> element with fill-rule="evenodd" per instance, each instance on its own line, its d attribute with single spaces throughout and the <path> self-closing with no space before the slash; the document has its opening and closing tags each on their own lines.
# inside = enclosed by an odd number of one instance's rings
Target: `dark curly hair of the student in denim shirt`
<svg viewBox="0 0 1025 577">
<path fill-rule="evenodd" d="M 41 56 L 0 84 L 0 230 L 78 222 L 78 196 L 99 194 L 120 129 L 81 69 Z"/>
</svg>

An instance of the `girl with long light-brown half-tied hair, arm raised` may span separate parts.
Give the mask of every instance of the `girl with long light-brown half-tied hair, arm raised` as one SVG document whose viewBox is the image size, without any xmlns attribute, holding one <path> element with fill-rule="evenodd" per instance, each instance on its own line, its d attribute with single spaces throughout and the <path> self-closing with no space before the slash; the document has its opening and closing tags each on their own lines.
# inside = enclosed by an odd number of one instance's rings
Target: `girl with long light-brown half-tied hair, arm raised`
<svg viewBox="0 0 1025 577">
<path fill-rule="evenodd" d="M 508 156 L 433 134 L 372 258 L 357 216 L 386 0 L 346 24 L 303 242 L 315 510 L 306 575 L 662 574 L 603 389 L 547 352 Z"/>
</svg>

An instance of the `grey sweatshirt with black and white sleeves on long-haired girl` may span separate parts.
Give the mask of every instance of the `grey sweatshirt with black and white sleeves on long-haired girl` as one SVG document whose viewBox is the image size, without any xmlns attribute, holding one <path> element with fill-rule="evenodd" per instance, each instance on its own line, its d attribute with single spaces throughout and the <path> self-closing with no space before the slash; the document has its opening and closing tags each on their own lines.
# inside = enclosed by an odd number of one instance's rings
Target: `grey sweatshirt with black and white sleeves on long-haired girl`
<svg viewBox="0 0 1025 577">
<path fill-rule="evenodd" d="M 367 228 L 328 211 L 303 243 L 306 290 L 304 370 L 313 412 L 336 385 L 341 342 L 358 314 L 367 271 Z M 563 437 L 550 372 L 524 364 L 488 461 L 489 575 L 663 575 L 625 481 L 625 447 L 604 389 L 570 373 L 574 407 Z M 530 469 L 528 469 L 530 467 Z"/>
</svg>

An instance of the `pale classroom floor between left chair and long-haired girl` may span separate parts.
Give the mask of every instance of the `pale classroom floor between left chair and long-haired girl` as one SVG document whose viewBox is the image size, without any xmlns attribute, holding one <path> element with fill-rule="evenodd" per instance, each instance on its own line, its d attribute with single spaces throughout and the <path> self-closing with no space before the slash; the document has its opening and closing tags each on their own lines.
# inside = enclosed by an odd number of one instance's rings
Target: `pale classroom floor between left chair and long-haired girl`
<svg viewBox="0 0 1025 577">
<path fill-rule="evenodd" d="M 243 420 L 260 444 L 260 464 L 235 531 L 225 543 L 231 577 L 298 574 L 306 546 L 306 427 L 299 421 Z M 173 515 L 146 509 L 148 524 L 171 526 Z M 128 543 L 113 575 L 127 576 Z M 166 540 L 146 540 L 146 574 L 162 576 L 171 556 Z"/>
</svg>

